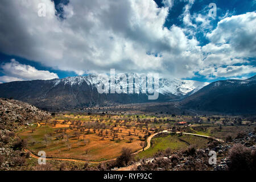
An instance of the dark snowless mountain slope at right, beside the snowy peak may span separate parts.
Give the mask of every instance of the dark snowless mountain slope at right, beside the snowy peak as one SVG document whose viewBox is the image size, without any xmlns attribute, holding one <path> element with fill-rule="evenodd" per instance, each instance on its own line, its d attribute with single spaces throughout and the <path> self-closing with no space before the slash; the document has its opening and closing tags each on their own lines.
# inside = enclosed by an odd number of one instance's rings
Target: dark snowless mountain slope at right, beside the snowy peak
<svg viewBox="0 0 256 182">
<path fill-rule="evenodd" d="M 222 80 L 184 98 L 187 109 L 218 113 L 256 113 L 256 76 L 247 80 Z"/>
</svg>

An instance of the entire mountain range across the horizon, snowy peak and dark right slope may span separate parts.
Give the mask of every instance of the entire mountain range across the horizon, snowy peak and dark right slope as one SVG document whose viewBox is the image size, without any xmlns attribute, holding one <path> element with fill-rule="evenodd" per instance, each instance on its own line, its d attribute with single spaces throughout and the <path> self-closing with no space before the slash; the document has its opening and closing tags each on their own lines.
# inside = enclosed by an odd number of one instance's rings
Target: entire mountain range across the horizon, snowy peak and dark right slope
<svg viewBox="0 0 256 182">
<path fill-rule="evenodd" d="M 139 88 L 138 94 L 100 94 L 97 88 L 101 82 L 109 84 L 110 81 L 102 80 L 96 74 L 53 80 L 14 81 L 0 84 L 0 97 L 14 98 L 49 111 L 175 101 L 183 109 L 219 113 L 256 113 L 256 76 L 247 80 L 221 80 L 210 84 L 159 78 L 157 100 L 148 100 L 142 82 L 133 82 L 133 88 Z M 115 82 L 118 82 L 117 77 Z M 125 86 L 121 82 L 119 84 Z"/>
</svg>

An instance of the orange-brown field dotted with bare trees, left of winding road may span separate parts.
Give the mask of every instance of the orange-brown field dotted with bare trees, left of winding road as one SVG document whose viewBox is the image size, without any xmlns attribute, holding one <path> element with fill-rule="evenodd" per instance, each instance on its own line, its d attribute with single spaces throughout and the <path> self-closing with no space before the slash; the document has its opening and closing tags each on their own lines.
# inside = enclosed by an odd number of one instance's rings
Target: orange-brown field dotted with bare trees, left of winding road
<svg viewBox="0 0 256 182">
<path fill-rule="evenodd" d="M 83 119 L 81 121 L 83 125 L 84 123 L 93 123 L 100 117 L 72 117 L 72 115 L 68 115 L 68 118 L 73 118 L 72 121 L 78 118 Z M 56 123 L 52 124 L 52 121 L 56 121 Z M 140 150 L 141 146 L 139 144 L 142 142 L 142 139 L 139 139 L 139 136 L 144 137 L 146 135 L 146 131 L 142 131 L 143 128 L 138 129 L 132 126 L 135 125 L 133 121 L 129 122 L 131 127 L 127 129 L 127 127 L 121 126 L 124 122 L 122 120 L 119 121 L 118 125 L 116 121 L 110 123 L 104 120 L 101 123 L 105 123 L 108 126 L 107 129 L 98 129 L 95 133 L 93 129 L 87 129 L 86 132 L 88 131 L 88 133 L 85 133 L 84 130 L 79 136 L 75 136 L 75 133 L 79 132 L 79 130 L 76 129 L 76 124 L 72 124 L 72 121 L 65 123 L 63 123 L 64 119 L 52 119 L 52 121 L 40 123 L 40 127 L 35 128 L 33 133 L 32 129 L 19 133 L 20 138 L 28 139 L 28 149 L 34 154 L 37 154 L 39 151 L 45 151 L 47 157 L 50 158 L 72 158 L 91 161 L 108 160 L 116 158 L 121 153 L 123 147 L 131 148 L 134 152 Z M 69 127 L 74 127 L 74 129 Z M 57 138 L 57 135 L 63 134 L 57 133 L 56 130 L 58 129 L 62 131 L 65 129 L 64 135 L 68 135 L 69 139 Z M 99 136 L 101 130 L 103 131 L 103 140 L 102 136 Z M 114 140 L 113 134 L 111 134 L 112 130 L 118 130 Z M 133 140 L 130 140 L 130 138 L 133 138 Z"/>
</svg>

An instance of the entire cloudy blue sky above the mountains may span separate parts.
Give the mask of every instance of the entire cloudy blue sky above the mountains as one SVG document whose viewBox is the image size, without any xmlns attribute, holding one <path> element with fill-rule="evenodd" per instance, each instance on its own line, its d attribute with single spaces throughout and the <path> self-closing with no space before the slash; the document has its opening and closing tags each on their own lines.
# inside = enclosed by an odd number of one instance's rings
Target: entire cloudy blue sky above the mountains
<svg viewBox="0 0 256 182">
<path fill-rule="evenodd" d="M 1 0 L 0 24 L 0 83 L 113 68 L 207 82 L 256 74 L 255 0 Z"/>
</svg>

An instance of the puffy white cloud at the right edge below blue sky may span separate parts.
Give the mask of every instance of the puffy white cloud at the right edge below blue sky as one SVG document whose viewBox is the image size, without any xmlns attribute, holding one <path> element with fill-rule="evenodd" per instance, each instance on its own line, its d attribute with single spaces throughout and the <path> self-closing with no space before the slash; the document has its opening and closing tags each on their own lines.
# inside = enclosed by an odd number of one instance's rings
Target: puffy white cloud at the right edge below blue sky
<svg viewBox="0 0 256 182">
<path fill-rule="evenodd" d="M 229 44 L 236 56 L 256 57 L 255 24 L 255 12 L 234 15 L 218 22 L 217 28 L 207 37 L 218 46 Z"/>
</svg>

